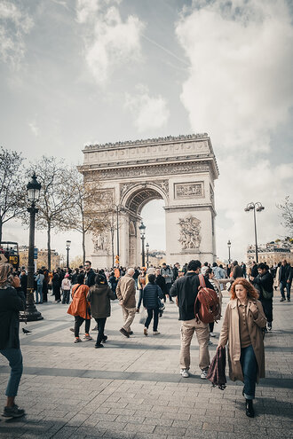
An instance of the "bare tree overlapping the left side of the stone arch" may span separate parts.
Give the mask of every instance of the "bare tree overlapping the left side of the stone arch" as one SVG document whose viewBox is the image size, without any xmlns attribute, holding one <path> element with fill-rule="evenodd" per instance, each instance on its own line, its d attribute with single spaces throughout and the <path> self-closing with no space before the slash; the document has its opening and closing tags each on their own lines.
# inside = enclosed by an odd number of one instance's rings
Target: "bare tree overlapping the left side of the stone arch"
<svg viewBox="0 0 293 439">
<path fill-rule="evenodd" d="M 67 228 L 79 231 L 83 237 L 83 263 L 85 261 L 85 235 L 91 232 L 98 235 L 108 227 L 109 206 L 112 200 L 102 189 L 99 181 L 85 182 L 83 175 L 73 167 L 64 175 L 67 190 L 71 193 L 71 208 L 67 209 L 65 223 Z"/>
</svg>

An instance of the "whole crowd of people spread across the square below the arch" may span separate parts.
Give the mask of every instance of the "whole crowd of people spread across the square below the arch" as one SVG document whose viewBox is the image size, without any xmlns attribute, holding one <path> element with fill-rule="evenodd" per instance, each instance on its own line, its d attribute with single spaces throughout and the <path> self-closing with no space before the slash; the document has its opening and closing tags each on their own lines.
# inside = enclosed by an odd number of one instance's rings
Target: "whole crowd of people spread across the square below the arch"
<svg viewBox="0 0 293 439">
<path fill-rule="evenodd" d="M 11 366 L 11 377 L 6 388 L 7 404 L 4 416 L 19 417 L 24 414 L 14 399 L 20 384 L 22 357 L 19 340 L 19 311 L 25 309 L 25 294 L 28 275 L 25 268 L 15 271 L 12 265 L 0 266 L 0 353 Z M 229 375 L 231 380 L 244 382 L 243 396 L 246 414 L 254 416 L 252 400 L 255 397 L 256 382 L 265 376 L 264 333 L 272 330 L 273 289 L 280 287 L 281 302 L 290 301 L 292 267 L 285 260 L 271 270 L 265 263 L 253 264 L 246 270 L 245 264 L 234 261 L 224 267 L 217 263 L 201 263 L 193 260 L 180 267 L 178 263 L 162 267 L 124 268 L 114 270 L 93 270 L 91 262 L 75 270 L 53 270 L 45 268 L 35 275 L 36 303 L 47 302 L 48 292 L 55 296 L 56 303 L 68 304 L 67 313 L 75 317 L 70 328 L 79 343 L 80 326 L 85 322 L 83 339 L 91 341 L 91 317 L 97 330 L 95 349 L 104 347 L 107 341 L 105 326 L 111 315 L 111 301 L 117 300 L 123 313 L 120 333 L 130 338 L 131 325 L 137 313 L 143 308 L 144 336 L 148 335 L 153 321 L 153 335 L 159 335 L 159 318 L 162 317 L 167 300 L 176 302 L 178 319 L 181 320 L 180 374 L 190 376 L 190 345 L 194 333 L 199 344 L 199 367 L 201 379 L 205 380 L 210 368 L 210 337 L 215 336 L 214 321 L 205 323 L 195 313 L 197 295 L 202 287 L 213 290 L 221 303 L 222 290 L 230 291 L 231 300 L 226 307 L 218 348 L 224 348 L 227 341 Z M 138 293 L 138 301 L 137 301 Z M 61 298 L 62 297 L 62 298 Z M 175 306 L 175 305 L 174 305 Z M 202 306 L 200 303 L 197 305 Z M 220 315 L 218 316 L 220 318 Z M 13 329 L 13 331 L 12 331 Z"/>
</svg>

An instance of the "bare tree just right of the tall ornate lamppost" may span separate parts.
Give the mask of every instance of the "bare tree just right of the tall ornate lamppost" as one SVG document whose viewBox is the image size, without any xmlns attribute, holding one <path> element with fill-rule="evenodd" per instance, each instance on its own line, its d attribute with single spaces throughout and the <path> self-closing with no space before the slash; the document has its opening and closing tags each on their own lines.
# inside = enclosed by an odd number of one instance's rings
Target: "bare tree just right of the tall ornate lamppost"
<svg viewBox="0 0 293 439">
<path fill-rule="evenodd" d="M 36 216 L 36 227 L 47 231 L 48 270 L 51 270 L 51 231 L 66 230 L 67 210 L 72 207 L 71 193 L 64 178 L 67 165 L 62 159 L 43 156 L 30 169 L 36 171 L 37 179 L 42 185 L 37 203 L 39 212 Z"/>
</svg>

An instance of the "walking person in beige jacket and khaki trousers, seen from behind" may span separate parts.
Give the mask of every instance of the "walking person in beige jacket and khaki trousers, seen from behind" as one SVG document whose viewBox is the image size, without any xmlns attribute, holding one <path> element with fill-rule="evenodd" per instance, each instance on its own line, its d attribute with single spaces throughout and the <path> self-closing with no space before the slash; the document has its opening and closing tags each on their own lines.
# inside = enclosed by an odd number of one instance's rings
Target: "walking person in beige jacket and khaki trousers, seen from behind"
<svg viewBox="0 0 293 439">
<path fill-rule="evenodd" d="M 116 287 L 116 295 L 119 299 L 119 304 L 123 310 L 124 325 L 120 329 L 120 332 L 128 337 L 133 333 L 131 331 L 131 324 L 134 320 L 136 307 L 135 307 L 135 281 L 132 278 L 134 269 L 130 268 L 123 278 L 119 279 Z"/>
</svg>

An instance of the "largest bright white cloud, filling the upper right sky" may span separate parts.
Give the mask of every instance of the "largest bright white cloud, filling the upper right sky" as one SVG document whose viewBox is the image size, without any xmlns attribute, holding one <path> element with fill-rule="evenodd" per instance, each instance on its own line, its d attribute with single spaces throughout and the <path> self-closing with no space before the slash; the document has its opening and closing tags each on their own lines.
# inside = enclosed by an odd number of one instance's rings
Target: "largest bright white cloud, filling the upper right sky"
<svg viewBox="0 0 293 439">
<path fill-rule="evenodd" d="M 224 148 L 267 151 L 292 106 L 293 28 L 285 0 L 218 0 L 182 16 L 192 67 L 181 100 L 192 127 Z"/>
</svg>

